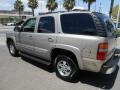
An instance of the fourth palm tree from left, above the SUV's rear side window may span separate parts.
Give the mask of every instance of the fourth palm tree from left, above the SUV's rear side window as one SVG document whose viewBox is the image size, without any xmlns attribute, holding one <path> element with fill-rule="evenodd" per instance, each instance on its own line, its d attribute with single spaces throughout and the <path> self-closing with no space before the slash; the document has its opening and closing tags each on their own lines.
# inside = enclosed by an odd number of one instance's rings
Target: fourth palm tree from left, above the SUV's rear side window
<svg viewBox="0 0 120 90">
<path fill-rule="evenodd" d="M 63 6 L 69 12 L 75 6 L 75 0 L 64 0 Z"/>
</svg>

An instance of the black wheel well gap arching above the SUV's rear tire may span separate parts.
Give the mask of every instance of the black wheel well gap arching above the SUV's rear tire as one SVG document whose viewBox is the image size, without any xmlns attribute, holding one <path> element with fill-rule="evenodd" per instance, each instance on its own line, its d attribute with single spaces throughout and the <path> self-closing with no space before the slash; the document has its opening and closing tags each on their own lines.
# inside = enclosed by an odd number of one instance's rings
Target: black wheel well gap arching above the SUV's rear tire
<svg viewBox="0 0 120 90">
<path fill-rule="evenodd" d="M 56 56 L 59 55 L 59 54 L 70 56 L 75 61 L 75 63 L 78 65 L 77 58 L 76 58 L 76 56 L 73 52 L 71 52 L 69 50 L 65 50 L 65 49 L 59 49 L 59 48 L 55 48 L 51 52 L 52 63 L 54 63 L 54 60 L 55 60 Z"/>
</svg>

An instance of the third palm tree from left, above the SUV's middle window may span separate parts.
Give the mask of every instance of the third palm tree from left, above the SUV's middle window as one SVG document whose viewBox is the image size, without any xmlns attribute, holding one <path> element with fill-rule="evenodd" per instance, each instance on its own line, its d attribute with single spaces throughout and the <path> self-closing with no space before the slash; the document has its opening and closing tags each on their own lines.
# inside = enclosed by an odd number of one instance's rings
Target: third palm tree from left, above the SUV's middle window
<svg viewBox="0 0 120 90">
<path fill-rule="evenodd" d="M 46 4 L 46 8 L 50 10 L 50 12 L 54 11 L 58 7 L 56 0 L 48 0 Z"/>
</svg>

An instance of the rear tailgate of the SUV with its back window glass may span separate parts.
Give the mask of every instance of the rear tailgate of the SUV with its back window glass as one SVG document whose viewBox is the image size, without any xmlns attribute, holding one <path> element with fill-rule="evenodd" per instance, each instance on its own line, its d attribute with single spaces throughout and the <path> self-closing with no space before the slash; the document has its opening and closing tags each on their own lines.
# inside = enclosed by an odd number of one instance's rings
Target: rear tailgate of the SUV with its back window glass
<svg viewBox="0 0 120 90">
<path fill-rule="evenodd" d="M 115 38 L 115 25 L 113 21 L 106 16 L 105 14 L 102 13 L 94 13 L 97 18 L 99 19 L 102 28 L 103 28 L 103 37 L 105 37 L 106 42 L 108 43 L 108 50 L 106 54 L 106 61 L 108 61 L 114 54 L 116 45 L 117 45 L 117 40 Z"/>
</svg>

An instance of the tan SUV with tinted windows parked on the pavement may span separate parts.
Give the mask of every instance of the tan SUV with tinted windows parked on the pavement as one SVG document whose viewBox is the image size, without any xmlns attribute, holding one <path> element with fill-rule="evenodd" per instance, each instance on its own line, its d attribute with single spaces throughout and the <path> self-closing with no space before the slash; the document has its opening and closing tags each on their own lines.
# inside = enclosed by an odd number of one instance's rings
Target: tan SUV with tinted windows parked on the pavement
<svg viewBox="0 0 120 90">
<path fill-rule="evenodd" d="M 102 13 L 72 11 L 29 18 L 7 33 L 12 56 L 52 65 L 58 77 L 72 81 L 79 70 L 110 74 L 119 58 L 115 26 Z"/>
</svg>

